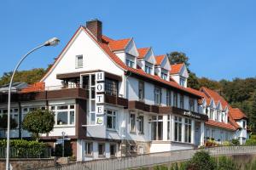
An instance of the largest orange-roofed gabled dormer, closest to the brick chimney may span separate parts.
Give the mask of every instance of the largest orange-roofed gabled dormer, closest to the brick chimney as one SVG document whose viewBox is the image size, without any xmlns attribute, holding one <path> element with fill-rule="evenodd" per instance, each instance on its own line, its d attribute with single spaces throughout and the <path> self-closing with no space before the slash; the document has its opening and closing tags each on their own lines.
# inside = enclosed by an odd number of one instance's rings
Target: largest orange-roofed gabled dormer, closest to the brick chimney
<svg viewBox="0 0 256 170">
<path fill-rule="evenodd" d="M 133 38 L 110 40 L 108 46 L 127 66 L 134 69 L 137 68 L 139 53 Z"/>
</svg>

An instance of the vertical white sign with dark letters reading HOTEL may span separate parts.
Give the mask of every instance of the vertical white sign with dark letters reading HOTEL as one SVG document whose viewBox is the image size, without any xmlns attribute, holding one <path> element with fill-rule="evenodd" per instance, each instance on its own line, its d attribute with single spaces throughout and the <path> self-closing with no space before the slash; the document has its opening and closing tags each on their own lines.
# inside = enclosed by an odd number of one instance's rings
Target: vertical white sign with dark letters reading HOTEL
<svg viewBox="0 0 256 170">
<path fill-rule="evenodd" d="M 104 123 L 104 81 L 104 72 L 96 72 L 96 125 L 103 125 Z"/>
</svg>

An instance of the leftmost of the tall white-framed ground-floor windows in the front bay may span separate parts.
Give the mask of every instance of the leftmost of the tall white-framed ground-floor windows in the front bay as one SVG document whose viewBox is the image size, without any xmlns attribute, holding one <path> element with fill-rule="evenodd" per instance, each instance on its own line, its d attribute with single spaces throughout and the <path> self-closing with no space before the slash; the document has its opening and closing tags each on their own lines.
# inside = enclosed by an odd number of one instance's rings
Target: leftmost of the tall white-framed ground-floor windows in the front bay
<svg viewBox="0 0 256 170">
<path fill-rule="evenodd" d="M 163 116 L 152 116 L 151 139 L 163 140 Z"/>
</svg>

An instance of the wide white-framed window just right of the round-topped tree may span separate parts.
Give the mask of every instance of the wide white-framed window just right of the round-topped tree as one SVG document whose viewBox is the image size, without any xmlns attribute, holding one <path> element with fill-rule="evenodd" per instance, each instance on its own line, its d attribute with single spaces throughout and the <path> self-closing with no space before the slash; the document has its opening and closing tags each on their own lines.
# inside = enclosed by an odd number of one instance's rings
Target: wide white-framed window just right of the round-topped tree
<svg viewBox="0 0 256 170">
<path fill-rule="evenodd" d="M 74 105 L 51 105 L 50 110 L 55 114 L 56 126 L 75 124 Z"/>
</svg>

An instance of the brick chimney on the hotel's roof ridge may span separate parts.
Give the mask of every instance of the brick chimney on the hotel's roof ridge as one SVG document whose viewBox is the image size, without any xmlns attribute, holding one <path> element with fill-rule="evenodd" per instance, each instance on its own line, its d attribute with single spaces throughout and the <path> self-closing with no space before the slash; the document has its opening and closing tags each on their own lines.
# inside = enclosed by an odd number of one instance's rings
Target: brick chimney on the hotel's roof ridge
<svg viewBox="0 0 256 170">
<path fill-rule="evenodd" d="M 102 21 L 89 20 L 86 22 L 86 28 L 96 37 L 96 40 L 102 42 Z"/>
</svg>

